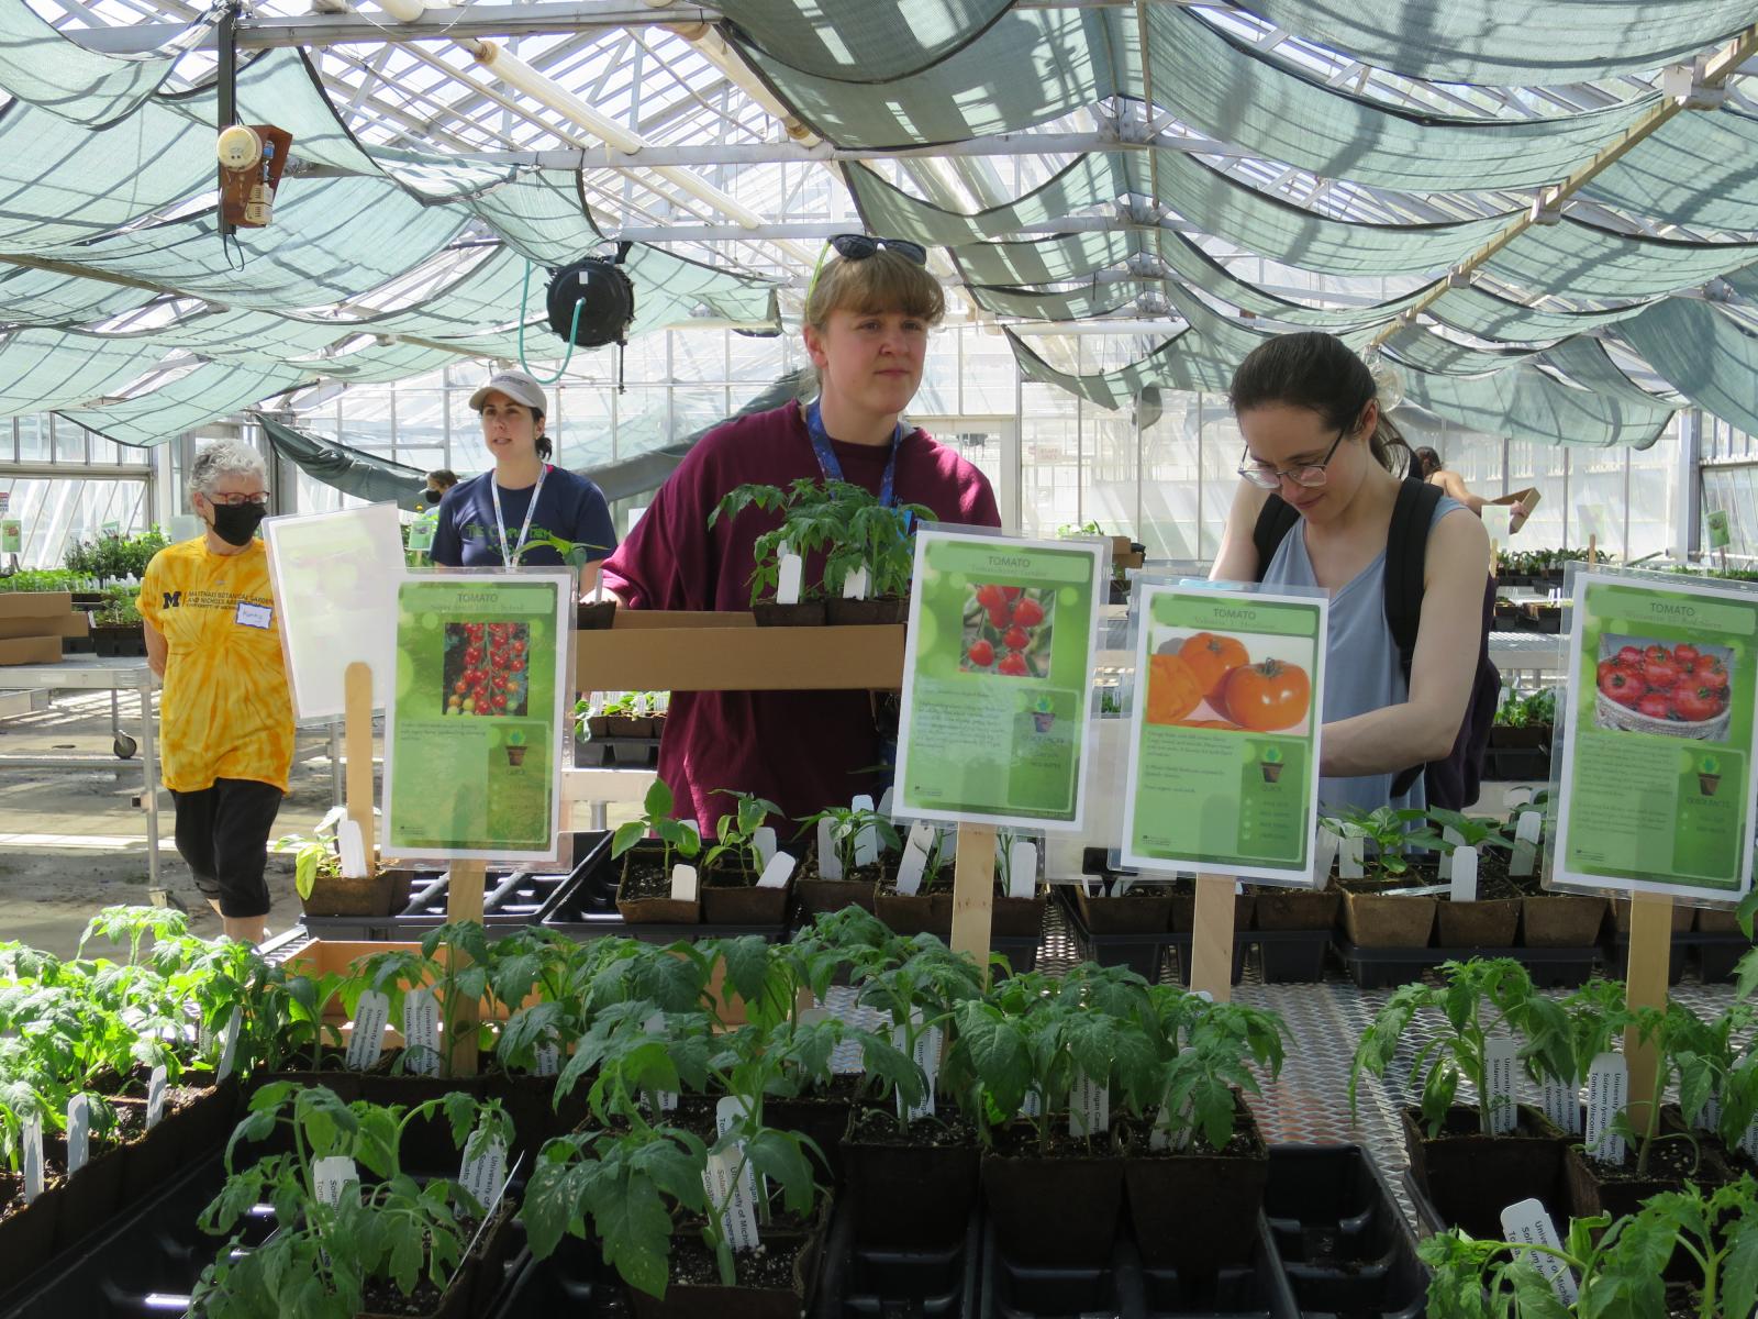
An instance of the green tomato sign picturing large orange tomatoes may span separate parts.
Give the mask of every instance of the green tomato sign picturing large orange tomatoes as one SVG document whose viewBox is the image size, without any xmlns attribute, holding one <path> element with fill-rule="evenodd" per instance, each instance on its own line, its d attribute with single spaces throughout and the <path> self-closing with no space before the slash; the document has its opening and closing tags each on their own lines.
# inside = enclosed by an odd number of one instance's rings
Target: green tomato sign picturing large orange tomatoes
<svg viewBox="0 0 1758 1319">
<path fill-rule="evenodd" d="M 1141 586 L 1123 867 L 1311 885 L 1326 610 Z"/>
</svg>

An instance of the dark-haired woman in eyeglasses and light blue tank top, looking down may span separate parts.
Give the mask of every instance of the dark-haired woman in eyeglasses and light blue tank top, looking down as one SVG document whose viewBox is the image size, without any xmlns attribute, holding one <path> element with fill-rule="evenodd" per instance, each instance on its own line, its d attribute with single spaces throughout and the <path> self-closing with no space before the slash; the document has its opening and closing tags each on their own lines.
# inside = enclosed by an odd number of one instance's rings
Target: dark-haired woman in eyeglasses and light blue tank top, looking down
<svg viewBox="0 0 1758 1319">
<path fill-rule="evenodd" d="M 1385 617 L 1385 572 L 1412 455 L 1380 410 L 1373 373 L 1341 339 L 1283 334 L 1239 364 L 1229 401 L 1245 457 L 1210 577 L 1329 593 L 1318 797 L 1331 811 L 1426 805 L 1420 774 L 1403 797 L 1392 784 L 1410 767 L 1445 760 L 1464 723 L 1484 637 L 1484 524 L 1449 496 L 1435 505 L 1406 682 Z M 1255 531 L 1278 499 L 1297 517 L 1266 563 Z"/>
</svg>

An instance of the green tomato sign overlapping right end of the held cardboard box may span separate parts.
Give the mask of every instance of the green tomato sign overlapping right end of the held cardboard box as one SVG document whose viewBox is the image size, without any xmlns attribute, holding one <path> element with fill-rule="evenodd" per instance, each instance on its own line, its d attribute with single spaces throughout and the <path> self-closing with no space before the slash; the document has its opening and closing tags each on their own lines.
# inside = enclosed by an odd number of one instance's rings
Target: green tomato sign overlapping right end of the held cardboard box
<svg viewBox="0 0 1758 1319">
<path fill-rule="evenodd" d="M 1109 543 L 916 533 L 895 811 L 1079 828 Z"/>
</svg>

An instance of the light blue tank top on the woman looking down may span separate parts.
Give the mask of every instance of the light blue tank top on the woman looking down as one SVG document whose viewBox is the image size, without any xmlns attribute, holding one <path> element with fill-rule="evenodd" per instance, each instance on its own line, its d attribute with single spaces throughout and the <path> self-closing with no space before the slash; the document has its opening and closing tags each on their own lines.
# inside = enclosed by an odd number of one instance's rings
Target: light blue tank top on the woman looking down
<svg viewBox="0 0 1758 1319">
<path fill-rule="evenodd" d="M 1464 505 L 1449 496 L 1442 496 L 1435 505 L 1435 522 Z M 1306 554 L 1306 524 L 1296 522 L 1282 538 L 1269 568 L 1264 572 L 1264 586 L 1317 587 L 1311 557 Z M 1331 594 L 1331 638 L 1326 647 L 1324 667 L 1324 719 L 1334 723 L 1369 711 L 1384 711 L 1410 698 L 1403 667 L 1398 663 L 1398 642 L 1385 623 L 1385 550 L 1375 556 L 1373 563 L 1362 568 L 1352 582 Z M 1318 807 L 1338 813 L 1343 807 L 1357 805 L 1373 811 L 1380 805 L 1427 807 L 1427 793 L 1422 776 L 1403 797 L 1392 798 L 1394 774 L 1362 774 L 1352 779 L 1318 779 Z"/>
</svg>

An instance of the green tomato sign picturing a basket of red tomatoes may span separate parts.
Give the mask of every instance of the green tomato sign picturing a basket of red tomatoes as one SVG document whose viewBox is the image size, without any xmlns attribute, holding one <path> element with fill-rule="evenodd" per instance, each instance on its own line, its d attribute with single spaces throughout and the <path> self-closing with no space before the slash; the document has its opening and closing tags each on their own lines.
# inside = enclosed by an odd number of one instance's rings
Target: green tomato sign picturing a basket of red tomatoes
<svg viewBox="0 0 1758 1319">
<path fill-rule="evenodd" d="M 1728 900 L 1751 886 L 1758 594 L 1580 573 L 1554 883 Z"/>
</svg>

